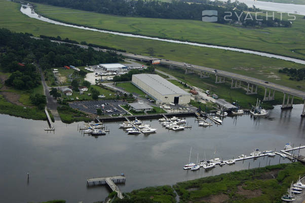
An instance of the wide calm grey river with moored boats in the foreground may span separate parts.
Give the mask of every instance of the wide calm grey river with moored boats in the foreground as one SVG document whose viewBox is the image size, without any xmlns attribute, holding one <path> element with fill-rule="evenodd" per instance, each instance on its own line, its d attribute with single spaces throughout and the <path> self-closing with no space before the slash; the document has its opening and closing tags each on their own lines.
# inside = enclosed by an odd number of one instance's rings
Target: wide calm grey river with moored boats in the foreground
<svg viewBox="0 0 305 203">
<path fill-rule="evenodd" d="M 211 171 L 184 171 L 190 147 L 192 161 L 216 157 L 230 159 L 260 150 L 281 150 L 285 143 L 305 144 L 305 120 L 300 118 L 302 105 L 290 111 L 276 106 L 269 118 L 250 115 L 227 117 L 222 126 L 198 127 L 195 118 L 187 118 L 192 129 L 169 131 L 157 120 L 145 121 L 158 133 L 131 136 L 108 123 L 110 133 L 94 138 L 78 131 L 83 122 L 55 123 L 55 133 L 47 133 L 46 121 L 0 115 L 0 202 L 28 202 L 66 199 L 67 202 L 103 200 L 105 186 L 87 188 L 86 179 L 126 175 L 123 192 L 218 175 L 250 167 L 279 163 L 280 157 L 246 160 L 234 165 L 216 166 Z M 297 153 L 297 152 L 296 152 Z M 301 150 L 301 153 L 305 151 Z M 282 162 L 288 160 L 281 159 Z M 27 172 L 30 173 L 27 182 Z"/>
</svg>

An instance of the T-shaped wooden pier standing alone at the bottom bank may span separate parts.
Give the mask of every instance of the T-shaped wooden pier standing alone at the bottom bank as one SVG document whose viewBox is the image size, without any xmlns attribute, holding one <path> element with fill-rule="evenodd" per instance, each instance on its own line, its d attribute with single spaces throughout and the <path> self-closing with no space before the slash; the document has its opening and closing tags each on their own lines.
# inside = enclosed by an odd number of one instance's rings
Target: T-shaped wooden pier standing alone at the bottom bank
<svg viewBox="0 0 305 203">
<path fill-rule="evenodd" d="M 103 177 L 103 178 L 90 178 L 87 179 L 87 186 L 95 186 L 95 185 L 108 185 L 112 191 L 116 191 L 118 193 L 118 197 L 123 199 L 124 196 L 119 189 L 119 187 L 115 184 L 116 183 L 125 183 L 126 178 L 125 176 L 110 176 L 110 177 Z"/>
</svg>

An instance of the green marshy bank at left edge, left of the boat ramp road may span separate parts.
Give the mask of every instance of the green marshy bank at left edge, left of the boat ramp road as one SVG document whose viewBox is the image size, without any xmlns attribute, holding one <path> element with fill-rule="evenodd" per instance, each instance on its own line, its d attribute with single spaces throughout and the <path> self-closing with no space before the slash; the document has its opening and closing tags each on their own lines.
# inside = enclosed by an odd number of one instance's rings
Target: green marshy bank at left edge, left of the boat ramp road
<svg viewBox="0 0 305 203">
<path fill-rule="evenodd" d="M 39 110 L 36 107 L 24 109 L 24 107 L 22 106 L 18 106 L 10 103 L 1 94 L 0 94 L 0 113 L 8 114 L 11 116 L 18 116 L 22 118 L 34 119 L 34 120 L 47 119 L 45 110 Z"/>
</svg>

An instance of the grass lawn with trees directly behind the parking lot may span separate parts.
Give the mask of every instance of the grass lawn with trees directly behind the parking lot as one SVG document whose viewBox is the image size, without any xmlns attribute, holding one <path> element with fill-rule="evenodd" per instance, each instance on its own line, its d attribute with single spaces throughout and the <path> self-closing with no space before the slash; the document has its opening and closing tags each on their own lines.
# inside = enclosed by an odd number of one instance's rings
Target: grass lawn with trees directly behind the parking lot
<svg viewBox="0 0 305 203">
<path fill-rule="evenodd" d="M 100 92 L 99 95 L 101 95 L 101 94 L 105 95 L 104 98 L 98 98 L 98 100 L 116 99 L 117 98 L 114 95 L 116 93 L 115 91 L 111 91 L 109 89 L 105 89 L 102 86 L 98 86 L 98 85 L 91 85 L 88 88 L 88 91 L 85 91 L 83 94 L 80 94 L 80 92 L 77 92 L 77 91 L 73 91 L 71 96 L 64 95 L 64 98 L 69 98 L 69 99 L 73 98 L 74 101 L 77 100 L 76 97 L 79 97 L 78 100 L 93 100 L 91 88 L 98 90 Z M 90 93 L 91 95 L 88 95 L 88 93 Z M 111 95 L 109 95 L 109 94 L 111 94 Z"/>
</svg>

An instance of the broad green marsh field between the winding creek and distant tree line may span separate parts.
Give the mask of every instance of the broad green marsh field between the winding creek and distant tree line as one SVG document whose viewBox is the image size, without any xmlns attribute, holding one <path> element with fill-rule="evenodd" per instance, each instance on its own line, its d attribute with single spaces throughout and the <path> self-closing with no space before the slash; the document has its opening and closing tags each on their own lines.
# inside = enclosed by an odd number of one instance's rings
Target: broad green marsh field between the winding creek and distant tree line
<svg viewBox="0 0 305 203">
<path fill-rule="evenodd" d="M 304 0 L 297 1 L 305 2 Z M 77 13 L 81 11 L 62 9 L 54 6 L 46 7 L 40 4 L 34 5 L 36 5 L 37 12 L 44 16 L 72 24 L 145 36 L 252 49 L 305 59 L 305 55 L 292 52 L 294 49 L 304 50 L 305 37 L 303 33 L 305 32 L 305 21 L 303 16 L 300 15 L 296 17 L 296 20 L 292 21 L 292 27 L 290 28 L 251 28 L 198 20 L 154 19 L 122 17 L 100 13 Z M 264 14 L 260 15 L 263 16 Z M 280 15 L 276 13 L 275 17 L 280 18 Z M 283 19 L 291 19 L 291 17 L 283 14 Z"/>
</svg>

